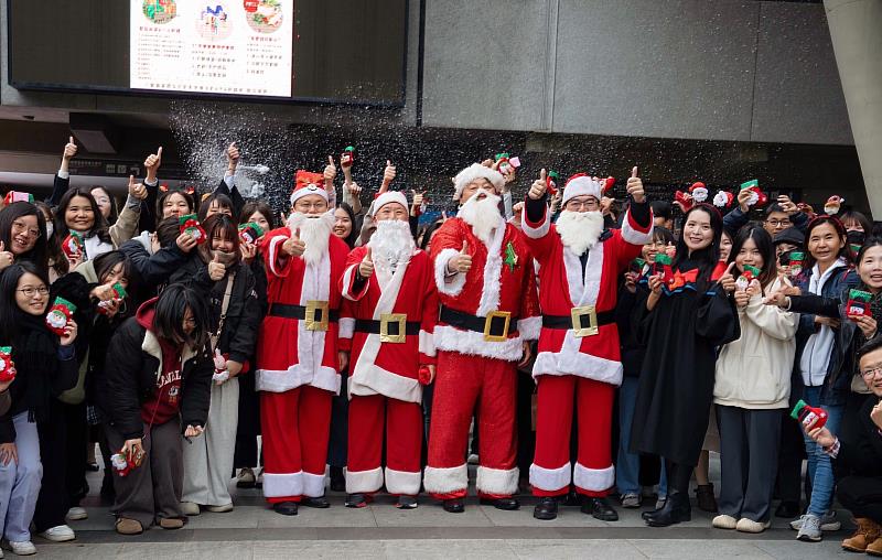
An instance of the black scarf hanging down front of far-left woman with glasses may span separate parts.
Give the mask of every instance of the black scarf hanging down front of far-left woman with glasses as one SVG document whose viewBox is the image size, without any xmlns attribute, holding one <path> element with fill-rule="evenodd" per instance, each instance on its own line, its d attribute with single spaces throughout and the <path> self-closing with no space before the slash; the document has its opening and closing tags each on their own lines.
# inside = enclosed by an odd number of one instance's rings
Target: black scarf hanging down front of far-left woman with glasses
<svg viewBox="0 0 882 560">
<path fill-rule="evenodd" d="M 58 338 L 46 329 L 43 315 L 17 312 L 18 332 L 12 343 L 18 375 L 28 380 L 24 399 L 28 421 L 49 419 L 52 403 L 51 376 L 58 367 Z"/>
</svg>

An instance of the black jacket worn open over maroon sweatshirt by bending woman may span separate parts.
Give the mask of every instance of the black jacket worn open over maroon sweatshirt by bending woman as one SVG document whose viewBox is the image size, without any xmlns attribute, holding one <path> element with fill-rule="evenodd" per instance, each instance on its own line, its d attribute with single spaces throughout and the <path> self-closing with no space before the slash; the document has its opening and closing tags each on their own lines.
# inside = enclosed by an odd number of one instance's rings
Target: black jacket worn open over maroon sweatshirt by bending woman
<svg viewBox="0 0 882 560">
<path fill-rule="evenodd" d="M 146 302 L 138 314 L 127 319 L 110 340 L 105 362 L 105 383 L 98 400 L 110 426 L 127 440 L 143 437 L 141 406 L 157 390 L 162 373 L 162 349 L 152 324 L 155 300 Z M 181 370 L 181 424 L 205 426 L 212 397 L 214 363 L 207 346 L 184 351 Z"/>
</svg>

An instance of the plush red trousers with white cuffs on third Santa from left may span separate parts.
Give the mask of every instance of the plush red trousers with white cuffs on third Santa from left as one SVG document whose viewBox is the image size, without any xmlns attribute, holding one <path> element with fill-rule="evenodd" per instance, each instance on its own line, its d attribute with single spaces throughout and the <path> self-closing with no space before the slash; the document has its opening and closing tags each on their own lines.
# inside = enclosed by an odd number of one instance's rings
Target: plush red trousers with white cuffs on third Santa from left
<svg viewBox="0 0 882 560">
<path fill-rule="evenodd" d="M 518 482 L 515 363 L 439 351 L 434 384 L 426 491 L 438 499 L 465 496 L 465 450 L 476 411 L 477 492 L 491 498 L 513 495 Z"/>
</svg>

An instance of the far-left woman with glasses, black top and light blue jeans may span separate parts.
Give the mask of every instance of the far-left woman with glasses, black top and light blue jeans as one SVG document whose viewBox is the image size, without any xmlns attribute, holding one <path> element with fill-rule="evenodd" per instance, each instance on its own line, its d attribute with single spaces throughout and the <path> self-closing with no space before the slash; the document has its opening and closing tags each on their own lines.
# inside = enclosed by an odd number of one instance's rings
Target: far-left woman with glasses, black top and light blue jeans
<svg viewBox="0 0 882 560">
<path fill-rule="evenodd" d="M 11 408 L 0 417 L 0 525 L 13 552 L 33 554 L 32 519 L 50 540 L 73 538 L 71 528 L 63 525 L 63 514 L 61 527 L 41 527 L 34 511 L 43 483 L 41 427 L 61 421 L 53 414 L 53 403 L 76 383 L 77 325 L 69 321 L 61 336 L 46 327 L 49 279 L 45 270 L 26 260 L 0 274 L 0 345 L 12 347 L 17 370 L 9 387 Z M 61 476 L 61 484 L 47 482 L 61 486 L 63 493 Z M 67 538 L 57 538 L 62 534 Z"/>
</svg>

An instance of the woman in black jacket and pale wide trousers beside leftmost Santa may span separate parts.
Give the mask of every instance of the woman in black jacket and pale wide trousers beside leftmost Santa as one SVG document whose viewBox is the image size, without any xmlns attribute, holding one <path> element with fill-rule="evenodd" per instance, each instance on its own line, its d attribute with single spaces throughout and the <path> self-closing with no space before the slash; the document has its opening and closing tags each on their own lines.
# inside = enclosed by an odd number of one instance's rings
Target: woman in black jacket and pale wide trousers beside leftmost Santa
<svg viewBox="0 0 882 560">
<path fill-rule="evenodd" d="M 243 261 L 236 222 L 215 214 L 204 224 L 207 241 L 193 251 L 171 282 L 191 286 L 209 302 L 209 345 L 215 364 L 205 437 L 184 449 L 184 515 L 233 509 L 233 472 L 239 410 L 239 374 L 250 358 L 262 320 L 251 268 Z"/>
</svg>

